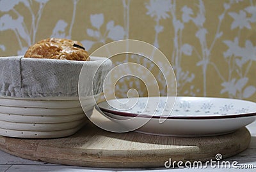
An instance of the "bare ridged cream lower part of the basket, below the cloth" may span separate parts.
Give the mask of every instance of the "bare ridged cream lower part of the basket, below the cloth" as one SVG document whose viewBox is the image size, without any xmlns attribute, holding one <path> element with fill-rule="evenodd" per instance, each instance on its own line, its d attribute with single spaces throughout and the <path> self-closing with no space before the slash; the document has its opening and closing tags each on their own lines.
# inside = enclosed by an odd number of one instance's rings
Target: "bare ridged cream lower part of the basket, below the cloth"
<svg viewBox="0 0 256 172">
<path fill-rule="evenodd" d="M 92 113 L 93 97 L 86 97 L 83 105 L 86 113 Z M 0 97 L 0 135 L 3 136 L 60 138 L 76 133 L 86 120 L 78 97 Z"/>
</svg>

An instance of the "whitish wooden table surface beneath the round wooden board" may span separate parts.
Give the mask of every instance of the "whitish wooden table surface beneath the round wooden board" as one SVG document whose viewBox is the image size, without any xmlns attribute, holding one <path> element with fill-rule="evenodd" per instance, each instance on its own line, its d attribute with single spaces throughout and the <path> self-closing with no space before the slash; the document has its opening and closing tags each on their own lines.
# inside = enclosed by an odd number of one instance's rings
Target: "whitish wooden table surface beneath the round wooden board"
<svg viewBox="0 0 256 172">
<path fill-rule="evenodd" d="M 246 126 L 251 135 L 252 140 L 249 147 L 228 159 L 223 159 L 223 161 L 234 162 L 237 161 L 239 165 L 248 166 L 250 169 L 235 169 L 235 168 L 212 168 L 208 166 L 207 168 L 198 169 L 198 168 L 148 168 L 148 169 L 105 169 L 105 168 L 86 168 L 86 167 L 77 167 L 77 166 L 62 166 L 59 164 L 49 164 L 45 162 L 30 161 L 27 159 L 22 159 L 20 157 L 15 157 L 10 154 L 0 150 L 0 171 L 14 172 L 14 171 L 255 171 L 256 169 L 256 122 Z M 231 163 L 230 163 L 231 164 Z M 253 166 L 253 169 L 251 167 Z"/>
</svg>

